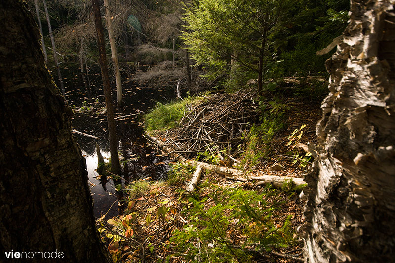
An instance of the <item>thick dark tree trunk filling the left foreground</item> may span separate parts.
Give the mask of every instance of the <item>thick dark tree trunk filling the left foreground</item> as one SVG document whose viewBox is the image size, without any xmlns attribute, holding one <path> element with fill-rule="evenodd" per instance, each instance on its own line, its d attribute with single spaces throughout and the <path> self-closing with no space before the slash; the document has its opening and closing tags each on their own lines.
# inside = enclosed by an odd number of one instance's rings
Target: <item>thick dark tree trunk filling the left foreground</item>
<svg viewBox="0 0 395 263">
<path fill-rule="evenodd" d="M 11 250 L 58 250 L 63 262 L 110 262 L 72 111 L 45 68 L 33 17 L 21 1 L 1 0 L 0 24 L 0 261 Z"/>
</svg>

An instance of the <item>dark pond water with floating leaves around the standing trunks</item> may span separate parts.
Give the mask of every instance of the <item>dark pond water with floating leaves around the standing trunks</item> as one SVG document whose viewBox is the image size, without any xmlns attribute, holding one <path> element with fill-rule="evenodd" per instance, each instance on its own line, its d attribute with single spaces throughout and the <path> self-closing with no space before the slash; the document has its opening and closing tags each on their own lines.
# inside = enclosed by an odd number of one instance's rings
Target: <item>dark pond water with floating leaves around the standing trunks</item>
<svg viewBox="0 0 395 263">
<path fill-rule="evenodd" d="M 67 70 L 67 71 L 66 71 Z M 67 68 L 64 74 L 74 75 L 72 69 Z M 77 72 L 78 70 L 74 70 Z M 100 71 L 99 71 L 100 72 Z M 65 83 L 66 100 L 69 105 L 74 108 L 75 115 L 72 121 L 73 129 L 94 135 L 99 140 L 75 134 L 75 138 L 79 143 L 82 153 L 86 159 L 88 170 L 90 191 L 94 202 L 94 216 L 99 218 L 106 214 L 106 218 L 111 218 L 119 214 L 121 206 L 121 194 L 116 191 L 120 185 L 125 185 L 125 180 L 131 182 L 142 178 L 150 180 L 165 180 L 169 170 L 169 160 L 162 156 L 160 151 L 153 148 L 151 144 L 142 136 L 143 129 L 139 124 L 139 116 L 132 116 L 117 120 L 118 135 L 118 152 L 120 153 L 121 163 L 123 166 L 122 180 L 115 182 L 112 178 L 108 180 L 99 180 L 97 173 L 97 153 L 96 143 L 100 146 L 101 154 L 105 161 L 110 157 L 107 133 L 107 119 L 100 112 L 100 106 L 104 107 L 104 103 L 97 104 L 96 101 L 103 102 L 103 91 L 101 88 L 100 74 L 92 74 L 90 76 L 91 95 L 89 100 L 83 82 L 78 79 L 78 75 L 74 81 Z M 123 85 L 123 109 L 116 110 L 116 116 L 134 114 L 138 110 L 146 112 L 147 109 L 156 101 L 163 101 L 163 98 L 174 98 L 175 87 L 150 87 L 138 86 L 131 81 L 133 75 L 123 76 L 126 81 Z M 99 88 L 95 88 L 99 87 Z M 112 87 L 115 84 L 112 83 Z M 115 91 L 113 91 L 114 101 Z M 83 112 L 78 109 L 86 106 Z M 122 113 L 120 113 L 122 112 Z"/>
</svg>

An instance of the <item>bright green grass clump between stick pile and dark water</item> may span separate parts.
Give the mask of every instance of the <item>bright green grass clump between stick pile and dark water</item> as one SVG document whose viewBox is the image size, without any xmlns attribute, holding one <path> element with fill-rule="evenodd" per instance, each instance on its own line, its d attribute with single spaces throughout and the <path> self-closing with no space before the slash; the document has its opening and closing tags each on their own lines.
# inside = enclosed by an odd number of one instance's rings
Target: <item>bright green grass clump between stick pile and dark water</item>
<svg viewBox="0 0 395 263">
<path fill-rule="evenodd" d="M 171 129 L 178 125 L 184 116 L 187 104 L 196 104 L 202 101 L 203 97 L 190 97 L 183 100 L 176 100 L 162 104 L 157 102 L 155 108 L 145 115 L 146 130 Z"/>
</svg>

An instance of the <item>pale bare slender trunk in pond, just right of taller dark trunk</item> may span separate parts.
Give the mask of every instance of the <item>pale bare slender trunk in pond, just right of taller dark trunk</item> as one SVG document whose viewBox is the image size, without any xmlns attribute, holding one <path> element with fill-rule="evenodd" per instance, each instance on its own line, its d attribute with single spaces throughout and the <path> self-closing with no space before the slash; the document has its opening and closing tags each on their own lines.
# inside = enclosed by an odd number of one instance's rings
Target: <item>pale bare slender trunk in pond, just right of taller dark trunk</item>
<svg viewBox="0 0 395 263">
<path fill-rule="evenodd" d="M 114 31 L 112 28 L 110 5 L 108 0 L 104 0 L 104 7 L 106 8 L 106 21 L 107 21 L 107 31 L 108 37 L 110 38 L 110 48 L 111 48 L 111 58 L 114 62 L 115 71 L 115 82 L 117 84 L 117 103 L 118 106 L 122 105 L 122 80 L 120 78 L 119 63 L 118 63 L 118 52 L 117 46 L 115 44 Z"/>
</svg>

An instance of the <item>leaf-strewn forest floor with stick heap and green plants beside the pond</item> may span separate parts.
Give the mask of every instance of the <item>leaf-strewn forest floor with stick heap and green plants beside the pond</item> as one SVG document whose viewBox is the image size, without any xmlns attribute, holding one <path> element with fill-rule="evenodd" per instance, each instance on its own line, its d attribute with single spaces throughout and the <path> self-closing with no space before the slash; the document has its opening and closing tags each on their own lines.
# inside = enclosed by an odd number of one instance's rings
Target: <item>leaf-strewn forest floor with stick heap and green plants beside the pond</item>
<svg viewBox="0 0 395 263">
<path fill-rule="evenodd" d="M 174 149 L 168 179 L 129 182 L 124 214 L 97 221 L 114 262 L 303 261 L 296 231 L 304 222 L 300 188 L 292 182 L 257 186 L 205 171 L 190 194 L 186 188 L 196 167 L 176 159 L 182 155 L 248 175 L 303 178 L 325 86 L 322 79 L 287 78 L 261 98 L 244 88 L 185 99 L 181 117 L 149 131 Z"/>
</svg>

